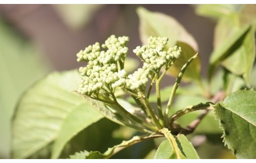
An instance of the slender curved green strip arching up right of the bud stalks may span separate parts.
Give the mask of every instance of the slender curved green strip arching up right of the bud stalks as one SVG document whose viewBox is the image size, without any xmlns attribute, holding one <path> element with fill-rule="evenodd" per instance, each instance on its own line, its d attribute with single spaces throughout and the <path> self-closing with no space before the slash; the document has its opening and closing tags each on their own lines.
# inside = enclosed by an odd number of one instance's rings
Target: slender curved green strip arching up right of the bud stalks
<svg viewBox="0 0 256 163">
<path fill-rule="evenodd" d="M 171 110 L 171 105 L 172 105 L 172 102 L 173 102 L 173 98 L 174 98 L 174 95 L 176 93 L 176 90 L 178 89 L 179 85 L 180 85 L 180 82 L 182 80 L 182 77 L 183 77 L 183 74 L 187 68 L 187 66 L 197 57 L 197 54 L 195 54 L 194 56 L 192 56 L 190 59 L 188 59 L 188 61 L 183 65 L 180 73 L 178 74 L 177 76 L 177 79 L 176 79 L 176 82 L 174 83 L 174 86 L 173 86 L 173 89 L 172 89 L 172 92 L 171 92 L 171 95 L 170 95 L 170 98 L 169 98 L 169 101 L 168 101 L 168 104 L 167 104 L 167 108 L 165 109 L 165 112 L 164 112 L 164 122 L 165 122 L 165 125 L 168 125 L 168 114 Z"/>
</svg>

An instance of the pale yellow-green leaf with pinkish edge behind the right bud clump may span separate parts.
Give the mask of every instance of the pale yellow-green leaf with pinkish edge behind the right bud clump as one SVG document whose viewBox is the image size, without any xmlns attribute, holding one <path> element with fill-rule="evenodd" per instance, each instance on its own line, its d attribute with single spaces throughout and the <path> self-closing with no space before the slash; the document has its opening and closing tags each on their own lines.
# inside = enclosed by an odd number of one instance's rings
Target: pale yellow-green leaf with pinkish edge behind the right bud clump
<svg viewBox="0 0 256 163">
<path fill-rule="evenodd" d="M 137 13 L 140 18 L 140 37 L 143 44 L 147 43 L 149 36 L 167 37 L 169 41 L 166 48 L 174 47 L 176 44 L 182 47 L 182 54 L 171 67 L 172 75 L 178 75 L 181 67 L 186 61 L 198 51 L 197 43 L 185 28 L 174 18 L 158 13 L 150 12 L 145 8 L 138 8 Z M 200 59 L 197 57 L 192 63 L 195 68 L 190 73 L 185 73 L 184 79 L 187 81 L 198 81 L 200 78 Z M 192 66 L 191 66 L 192 67 Z M 173 70 L 173 71 L 172 71 Z"/>
</svg>

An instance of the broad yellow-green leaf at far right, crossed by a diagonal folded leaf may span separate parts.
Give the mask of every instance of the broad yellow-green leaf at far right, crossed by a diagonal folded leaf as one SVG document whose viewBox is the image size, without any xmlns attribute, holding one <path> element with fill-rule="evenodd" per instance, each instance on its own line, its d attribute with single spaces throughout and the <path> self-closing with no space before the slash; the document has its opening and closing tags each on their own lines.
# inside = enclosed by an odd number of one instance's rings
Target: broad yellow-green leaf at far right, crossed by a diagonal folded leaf
<svg viewBox="0 0 256 163">
<path fill-rule="evenodd" d="M 241 15 L 232 14 L 219 20 L 216 27 L 214 47 L 218 49 L 225 44 L 227 38 L 237 34 L 241 29 L 239 18 Z M 243 75 L 249 85 L 250 74 L 255 60 L 255 28 L 252 27 L 246 35 L 235 45 L 229 54 L 221 60 L 221 65 L 231 71 L 233 74 Z"/>
</svg>

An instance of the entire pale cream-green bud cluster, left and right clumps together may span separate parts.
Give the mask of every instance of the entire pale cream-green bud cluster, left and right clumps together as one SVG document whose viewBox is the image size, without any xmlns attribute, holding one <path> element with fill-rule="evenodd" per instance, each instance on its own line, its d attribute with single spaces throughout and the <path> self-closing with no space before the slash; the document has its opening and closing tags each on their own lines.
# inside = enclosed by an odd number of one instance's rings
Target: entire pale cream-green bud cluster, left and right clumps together
<svg viewBox="0 0 256 163">
<path fill-rule="evenodd" d="M 97 42 L 76 54 L 77 61 L 88 63 L 86 67 L 79 68 L 82 76 L 79 93 L 90 95 L 102 88 L 112 91 L 116 87 L 144 89 L 148 78 L 152 80 L 164 65 L 169 68 L 181 54 L 181 48 L 177 46 L 165 50 L 168 42 L 166 37 L 151 36 L 147 45 L 137 47 L 133 51 L 144 62 L 143 67 L 127 76 L 123 67 L 128 53 L 128 41 L 126 36 L 116 38 L 111 35 L 102 46 Z"/>
</svg>

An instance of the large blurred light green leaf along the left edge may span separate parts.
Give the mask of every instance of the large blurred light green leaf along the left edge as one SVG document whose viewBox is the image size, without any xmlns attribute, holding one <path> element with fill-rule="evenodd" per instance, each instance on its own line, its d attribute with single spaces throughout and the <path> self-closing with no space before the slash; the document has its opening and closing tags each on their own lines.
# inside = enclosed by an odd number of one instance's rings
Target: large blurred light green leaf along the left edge
<svg viewBox="0 0 256 163">
<path fill-rule="evenodd" d="M 0 158 L 9 157 L 10 121 L 19 96 L 49 67 L 31 42 L 0 18 Z"/>
</svg>

